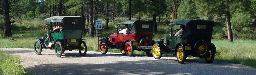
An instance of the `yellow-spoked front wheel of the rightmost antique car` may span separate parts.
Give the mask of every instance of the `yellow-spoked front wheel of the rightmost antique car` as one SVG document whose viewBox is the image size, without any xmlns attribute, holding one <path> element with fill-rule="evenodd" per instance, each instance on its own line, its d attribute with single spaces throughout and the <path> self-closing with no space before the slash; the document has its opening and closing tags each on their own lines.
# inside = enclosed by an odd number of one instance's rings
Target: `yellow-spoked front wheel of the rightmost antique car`
<svg viewBox="0 0 256 75">
<path fill-rule="evenodd" d="M 157 43 L 153 45 L 152 55 L 155 59 L 160 59 L 163 55 Z"/>
</svg>

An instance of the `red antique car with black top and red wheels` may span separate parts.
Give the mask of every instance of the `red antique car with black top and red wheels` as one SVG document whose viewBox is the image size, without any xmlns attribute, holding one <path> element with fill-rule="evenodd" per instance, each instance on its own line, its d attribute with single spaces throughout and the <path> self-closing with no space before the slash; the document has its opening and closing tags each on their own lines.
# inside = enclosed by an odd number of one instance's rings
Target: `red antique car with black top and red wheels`
<svg viewBox="0 0 256 75">
<path fill-rule="evenodd" d="M 153 21 L 129 20 L 116 24 L 116 32 L 110 38 L 100 39 L 99 50 L 102 54 L 108 49 L 119 49 L 121 53 L 131 56 L 133 50 L 144 51 L 147 55 L 152 55 Z M 118 27 L 128 26 L 127 34 L 120 34 Z"/>
</svg>

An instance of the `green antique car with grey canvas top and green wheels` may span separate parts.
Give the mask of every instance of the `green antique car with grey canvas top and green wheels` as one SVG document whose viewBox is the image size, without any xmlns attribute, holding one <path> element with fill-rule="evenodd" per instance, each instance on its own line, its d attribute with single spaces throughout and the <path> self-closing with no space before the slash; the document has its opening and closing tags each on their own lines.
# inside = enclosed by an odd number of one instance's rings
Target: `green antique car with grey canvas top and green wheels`
<svg viewBox="0 0 256 75">
<path fill-rule="evenodd" d="M 87 46 L 85 39 L 82 39 L 85 27 L 85 17 L 80 16 L 53 16 L 45 19 L 50 22 L 47 25 L 48 31 L 43 38 L 36 38 L 34 51 L 41 54 L 42 48 L 54 49 L 57 57 L 61 57 L 65 50 L 78 49 L 81 56 L 86 55 Z M 62 23 L 63 29 L 53 31 L 53 26 Z"/>
</svg>

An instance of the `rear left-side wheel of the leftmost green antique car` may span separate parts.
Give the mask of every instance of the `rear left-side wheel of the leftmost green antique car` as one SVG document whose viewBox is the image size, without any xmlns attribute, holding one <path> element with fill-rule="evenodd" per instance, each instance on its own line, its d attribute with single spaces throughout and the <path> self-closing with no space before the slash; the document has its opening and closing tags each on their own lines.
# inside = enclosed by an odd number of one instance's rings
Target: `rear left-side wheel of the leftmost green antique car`
<svg viewBox="0 0 256 75">
<path fill-rule="evenodd" d="M 63 50 L 63 49 L 62 49 L 62 44 L 61 44 L 61 42 L 60 42 L 60 41 L 56 42 L 55 48 L 54 48 L 54 52 L 55 52 L 55 54 L 56 54 L 57 57 L 61 57 L 62 52 L 63 52 L 62 50 Z"/>
</svg>

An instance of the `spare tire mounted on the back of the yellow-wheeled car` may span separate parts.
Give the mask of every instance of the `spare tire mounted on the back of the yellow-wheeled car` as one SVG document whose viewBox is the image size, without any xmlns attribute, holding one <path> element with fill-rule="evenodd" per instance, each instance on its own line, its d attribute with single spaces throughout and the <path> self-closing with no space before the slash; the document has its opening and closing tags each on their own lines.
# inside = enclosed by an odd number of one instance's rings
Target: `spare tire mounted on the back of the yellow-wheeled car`
<svg viewBox="0 0 256 75">
<path fill-rule="evenodd" d="M 198 56 L 199 58 L 202 58 L 202 57 L 208 55 L 209 49 L 210 49 L 210 45 L 207 41 L 198 40 L 195 43 L 193 53 L 195 53 L 195 55 Z"/>
</svg>

